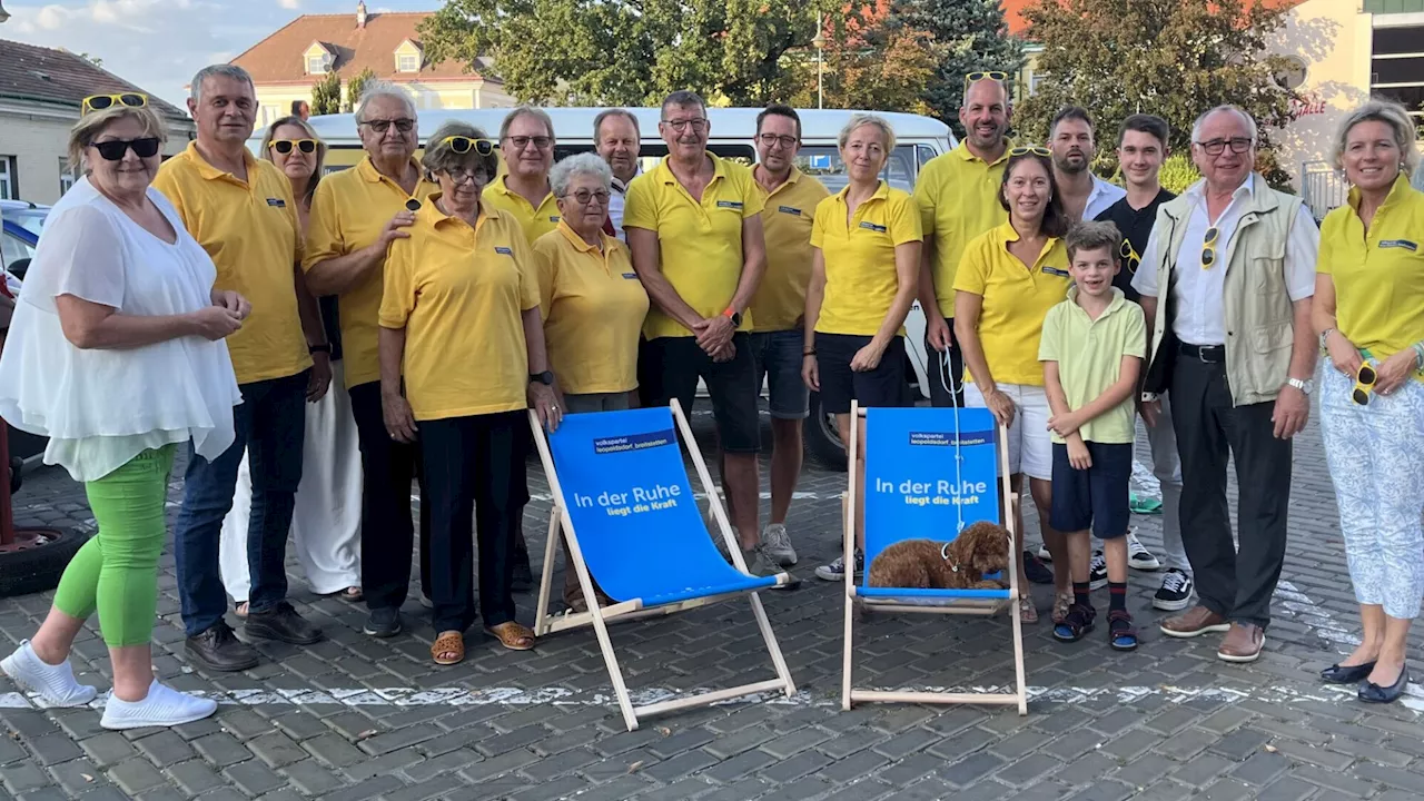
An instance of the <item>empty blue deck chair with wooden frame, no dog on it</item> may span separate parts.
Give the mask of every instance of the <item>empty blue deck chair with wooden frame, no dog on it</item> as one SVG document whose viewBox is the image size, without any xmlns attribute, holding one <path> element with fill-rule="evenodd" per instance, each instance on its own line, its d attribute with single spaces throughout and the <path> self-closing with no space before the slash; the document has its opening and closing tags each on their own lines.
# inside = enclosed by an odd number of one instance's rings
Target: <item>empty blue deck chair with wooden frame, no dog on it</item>
<svg viewBox="0 0 1424 801">
<path fill-rule="evenodd" d="M 535 636 L 594 627 L 628 731 L 638 728 L 639 718 L 651 714 L 753 693 L 785 691 L 786 697 L 792 697 L 796 686 L 756 594 L 758 590 L 786 584 L 790 577 L 786 573 L 766 577 L 748 574 L 742 549 L 732 536 L 721 496 L 678 402 L 655 409 L 570 415 L 548 436 L 531 412 L 530 426 L 554 495 Z M 692 455 L 733 564 L 726 563 L 708 534 L 688 482 L 678 430 Z M 553 590 L 554 547 L 561 530 L 568 540 L 568 569 L 578 573 L 590 609 L 550 616 L 545 610 Z M 598 606 L 594 579 L 615 603 Z M 607 621 L 671 614 L 738 596 L 750 597 L 752 614 L 766 640 L 776 678 L 634 707 Z"/>
</svg>

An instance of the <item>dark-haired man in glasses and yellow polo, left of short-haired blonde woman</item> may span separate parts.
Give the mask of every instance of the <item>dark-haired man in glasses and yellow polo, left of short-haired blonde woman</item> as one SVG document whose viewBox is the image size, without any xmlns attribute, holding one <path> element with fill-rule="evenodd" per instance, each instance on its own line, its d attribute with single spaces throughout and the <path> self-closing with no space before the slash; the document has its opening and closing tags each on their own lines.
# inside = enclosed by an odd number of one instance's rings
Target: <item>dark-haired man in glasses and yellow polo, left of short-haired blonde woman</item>
<svg viewBox="0 0 1424 801">
<path fill-rule="evenodd" d="M 802 420 L 807 389 L 800 378 L 802 322 L 810 281 L 810 228 L 816 204 L 829 194 L 796 168 L 800 117 L 790 105 L 768 105 L 756 115 L 756 190 L 762 197 L 766 275 L 752 296 L 752 358 L 756 386 L 766 381 L 772 412 L 772 519 L 762 543 L 782 567 L 796 564 L 786 513 L 802 467 Z"/>
</svg>

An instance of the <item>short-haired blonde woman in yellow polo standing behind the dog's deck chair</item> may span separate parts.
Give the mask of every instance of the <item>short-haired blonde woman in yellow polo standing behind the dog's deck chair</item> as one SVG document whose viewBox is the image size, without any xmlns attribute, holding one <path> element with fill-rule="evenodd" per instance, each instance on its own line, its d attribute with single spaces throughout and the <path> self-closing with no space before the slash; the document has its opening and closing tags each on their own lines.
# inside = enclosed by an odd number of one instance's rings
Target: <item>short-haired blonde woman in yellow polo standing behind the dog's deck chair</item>
<svg viewBox="0 0 1424 801">
<path fill-rule="evenodd" d="M 840 160 L 850 184 L 816 204 L 802 378 L 836 415 L 840 440 L 850 442 L 850 402 L 900 406 L 904 399 L 904 316 L 914 302 L 920 269 L 920 210 L 880 178 L 894 150 L 894 130 L 881 117 L 856 114 L 842 128 Z M 853 469 L 864 476 L 866 426 L 859 423 Z M 856 564 L 864 552 L 864 497 L 856 499 Z M 839 562 L 844 562 L 842 557 Z M 819 569 L 844 574 L 844 564 Z"/>
</svg>

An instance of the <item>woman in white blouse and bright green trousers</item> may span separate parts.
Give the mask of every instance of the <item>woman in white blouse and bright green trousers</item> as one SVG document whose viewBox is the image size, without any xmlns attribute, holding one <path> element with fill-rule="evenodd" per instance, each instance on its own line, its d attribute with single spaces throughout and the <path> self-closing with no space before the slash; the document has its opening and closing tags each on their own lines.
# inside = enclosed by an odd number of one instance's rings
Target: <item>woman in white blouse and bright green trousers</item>
<svg viewBox="0 0 1424 801">
<path fill-rule="evenodd" d="M 222 339 L 248 302 L 214 291 L 216 271 L 148 185 L 164 125 L 147 107 L 81 117 L 70 162 L 85 177 L 50 211 L 0 356 L 0 415 L 50 438 L 44 460 L 84 482 L 98 533 L 74 556 L 33 640 L 0 667 L 50 706 L 94 687 L 68 664 L 95 610 L 114 664 L 104 728 L 178 725 L 216 704 L 159 684 L 150 639 L 174 452 L 215 459 L 242 402 Z"/>
</svg>

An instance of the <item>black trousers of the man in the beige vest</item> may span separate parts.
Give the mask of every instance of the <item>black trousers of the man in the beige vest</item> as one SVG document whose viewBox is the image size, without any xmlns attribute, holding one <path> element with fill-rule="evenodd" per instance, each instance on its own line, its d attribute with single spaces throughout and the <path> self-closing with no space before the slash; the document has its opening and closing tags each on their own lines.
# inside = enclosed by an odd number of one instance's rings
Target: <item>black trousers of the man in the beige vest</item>
<svg viewBox="0 0 1424 801">
<path fill-rule="evenodd" d="M 1286 557 L 1290 440 L 1276 439 L 1274 403 L 1233 406 L 1226 365 L 1180 355 L 1172 371 L 1172 428 L 1182 456 L 1182 544 L 1202 606 L 1267 626 Z M 1226 460 L 1236 459 L 1240 549 L 1232 543 Z"/>
</svg>

